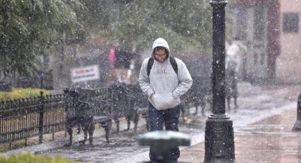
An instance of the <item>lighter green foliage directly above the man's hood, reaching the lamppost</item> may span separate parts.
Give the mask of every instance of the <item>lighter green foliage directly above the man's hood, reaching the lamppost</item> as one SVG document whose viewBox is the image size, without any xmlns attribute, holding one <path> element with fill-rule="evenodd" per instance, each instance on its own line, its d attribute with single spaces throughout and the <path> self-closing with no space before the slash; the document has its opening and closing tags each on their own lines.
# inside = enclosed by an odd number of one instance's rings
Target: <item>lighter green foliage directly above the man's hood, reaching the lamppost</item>
<svg viewBox="0 0 301 163">
<path fill-rule="evenodd" d="M 93 6 L 97 6 L 95 3 Z M 89 4 L 86 1 L 91 12 Z M 138 51 L 149 49 L 158 37 L 165 38 L 173 51 L 208 53 L 211 48 L 212 11 L 208 1 L 102 0 L 101 8 L 92 7 L 92 11 L 92 33 L 110 42 L 118 41 L 129 50 L 133 45 Z M 103 21 L 96 21 L 98 18 Z"/>
</svg>

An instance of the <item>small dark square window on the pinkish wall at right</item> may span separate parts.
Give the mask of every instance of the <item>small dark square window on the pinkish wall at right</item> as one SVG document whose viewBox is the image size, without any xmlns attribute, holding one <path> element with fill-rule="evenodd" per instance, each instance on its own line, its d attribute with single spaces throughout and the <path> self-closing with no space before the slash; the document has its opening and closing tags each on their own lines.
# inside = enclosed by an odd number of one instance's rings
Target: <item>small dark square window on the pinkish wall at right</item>
<svg viewBox="0 0 301 163">
<path fill-rule="evenodd" d="M 297 13 L 283 13 L 283 32 L 297 33 L 299 30 L 299 16 Z"/>
</svg>

